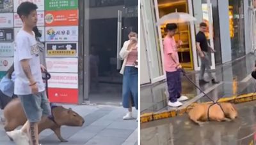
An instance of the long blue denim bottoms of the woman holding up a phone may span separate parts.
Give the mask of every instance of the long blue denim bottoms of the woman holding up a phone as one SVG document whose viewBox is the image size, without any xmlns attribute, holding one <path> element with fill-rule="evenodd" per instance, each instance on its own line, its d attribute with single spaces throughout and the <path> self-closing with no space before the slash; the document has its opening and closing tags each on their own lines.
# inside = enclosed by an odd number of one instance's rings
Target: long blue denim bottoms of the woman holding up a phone
<svg viewBox="0 0 256 145">
<path fill-rule="evenodd" d="M 125 66 L 122 96 L 123 107 L 132 106 L 138 109 L 138 69 L 136 67 Z"/>
</svg>

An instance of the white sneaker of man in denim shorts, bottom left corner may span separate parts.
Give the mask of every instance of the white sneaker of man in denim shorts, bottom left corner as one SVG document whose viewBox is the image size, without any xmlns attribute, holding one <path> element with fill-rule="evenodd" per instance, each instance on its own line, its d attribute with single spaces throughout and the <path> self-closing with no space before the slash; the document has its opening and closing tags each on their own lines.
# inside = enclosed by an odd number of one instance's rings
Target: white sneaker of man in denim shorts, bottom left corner
<svg viewBox="0 0 256 145">
<path fill-rule="evenodd" d="M 27 134 L 21 132 L 21 130 L 13 130 L 11 132 L 6 132 L 6 134 L 12 138 L 17 145 L 29 145 L 29 138 Z"/>
</svg>

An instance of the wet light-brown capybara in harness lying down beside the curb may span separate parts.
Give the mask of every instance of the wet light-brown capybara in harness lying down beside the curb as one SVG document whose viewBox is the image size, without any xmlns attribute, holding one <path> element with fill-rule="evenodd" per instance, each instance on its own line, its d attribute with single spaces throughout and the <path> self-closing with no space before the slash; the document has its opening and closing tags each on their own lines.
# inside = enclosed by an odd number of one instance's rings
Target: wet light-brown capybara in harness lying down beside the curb
<svg viewBox="0 0 256 145">
<path fill-rule="evenodd" d="M 220 106 L 223 108 L 223 111 L 221 109 L 221 107 L 218 105 L 220 104 Z M 197 123 L 198 125 L 202 125 L 203 122 L 202 121 L 208 121 L 208 108 L 209 109 L 209 120 L 215 120 L 215 121 L 231 121 L 234 120 L 237 117 L 237 110 L 234 107 L 234 105 L 232 105 L 229 102 L 221 102 L 218 104 L 196 104 L 195 107 L 193 107 L 193 109 L 191 109 L 188 113 L 189 118 L 191 120 L 193 120 L 195 123 Z"/>
</svg>

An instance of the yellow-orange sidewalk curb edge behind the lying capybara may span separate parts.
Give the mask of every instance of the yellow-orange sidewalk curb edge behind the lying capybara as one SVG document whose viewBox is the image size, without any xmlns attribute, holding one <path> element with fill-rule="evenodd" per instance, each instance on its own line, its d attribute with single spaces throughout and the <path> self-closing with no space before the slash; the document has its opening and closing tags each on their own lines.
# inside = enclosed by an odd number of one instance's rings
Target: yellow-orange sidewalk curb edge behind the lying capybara
<svg viewBox="0 0 256 145">
<path fill-rule="evenodd" d="M 250 102 L 256 100 L 256 93 L 246 93 L 244 95 L 225 97 L 218 100 L 218 102 L 234 102 L 235 104 Z M 212 102 L 204 102 L 204 103 L 212 103 Z M 140 123 L 147 123 L 149 121 L 161 120 L 164 118 L 172 118 L 175 116 L 182 116 L 187 113 L 193 106 L 197 104 L 196 102 L 190 104 L 188 107 L 183 109 L 176 109 L 172 111 L 163 111 L 161 113 L 145 113 L 140 116 Z"/>
</svg>

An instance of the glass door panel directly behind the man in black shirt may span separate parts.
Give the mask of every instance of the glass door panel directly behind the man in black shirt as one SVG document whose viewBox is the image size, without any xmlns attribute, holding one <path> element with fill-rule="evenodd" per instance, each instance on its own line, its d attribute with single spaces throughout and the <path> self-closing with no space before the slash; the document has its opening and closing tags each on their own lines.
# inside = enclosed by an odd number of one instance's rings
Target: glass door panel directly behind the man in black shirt
<svg viewBox="0 0 256 145">
<path fill-rule="evenodd" d="M 208 39 L 209 45 L 214 49 L 211 1 L 210 0 L 193 1 L 193 10 L 194 10 L 195 18 L 197 20 L 196 27 L 195 27 L 196 33 L 200 29 L 199 28 L 200 22 L 205 22 L 209 28 L 209 31 L 207 32 L 206 37 Z M 198 53 L 194 53 L 193 58 L 194 58 L 195 71 L 199 71 L 201 62 L 200 62 Z M 211 69 L 215 69 L 214 53 L 211 53 Z"/>
</svg>

